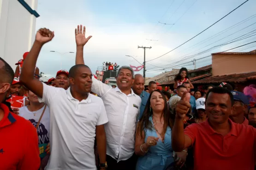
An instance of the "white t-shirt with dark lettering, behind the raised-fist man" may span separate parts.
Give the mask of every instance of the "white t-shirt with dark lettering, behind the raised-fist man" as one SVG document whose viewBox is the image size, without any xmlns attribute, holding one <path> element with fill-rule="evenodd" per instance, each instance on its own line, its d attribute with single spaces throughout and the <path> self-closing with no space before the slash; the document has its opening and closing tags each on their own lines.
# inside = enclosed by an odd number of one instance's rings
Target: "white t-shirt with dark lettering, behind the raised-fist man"
<svg viewBox="0 0 256 170">
<path fill-rule="evenodd" d="M 35 127 L 38 123 L 38 120 L 41 117 L 44 107 L 37 110 L 36 112 L 30 112 L 27 106 L 19 108 L 19 116 L 24 119 L 29 120 Z M 38 147 L 40 150 L 40 157 L 44 158 L 46 156 L 45 149 L 49 141 L 49 133 L 50 133 L 50 113 L 49 108 L 46 107 L 42 119 L 40 120 L 40 124 L 37 127 L 37 135 L 38 135 Z"/>
</svg>

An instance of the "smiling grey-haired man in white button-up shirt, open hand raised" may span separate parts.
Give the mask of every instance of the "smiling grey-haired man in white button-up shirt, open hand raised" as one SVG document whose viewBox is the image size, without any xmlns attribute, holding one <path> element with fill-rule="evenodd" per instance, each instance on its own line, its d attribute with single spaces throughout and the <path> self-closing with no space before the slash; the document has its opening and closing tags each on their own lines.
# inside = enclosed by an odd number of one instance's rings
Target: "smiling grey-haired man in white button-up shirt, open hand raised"
<svg viewBox="0 0 256 170">
<path fill-rule="evenodd" d="M 76 64 L 84 64 L 83 48 L 77 49 Z M 94 77 L 92 81 L 92 91 L 101 97 L 107 111 L 107 170 L 134 170 L 136 119 L 141 105 L 141 98 L 131 89 L 134 72 L 129 66 L 119 68 L 116 88 Z"/>
</svg>

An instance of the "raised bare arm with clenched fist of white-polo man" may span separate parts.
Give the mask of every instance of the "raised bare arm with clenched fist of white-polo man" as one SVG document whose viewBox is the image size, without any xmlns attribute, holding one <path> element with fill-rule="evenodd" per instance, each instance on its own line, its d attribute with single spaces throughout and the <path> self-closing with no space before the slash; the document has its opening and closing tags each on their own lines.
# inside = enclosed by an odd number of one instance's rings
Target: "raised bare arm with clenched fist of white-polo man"
<svg viewBox="0 0 256 170">
<path fill-rule="evenodd" d="M 54 32 L 50 31 L 47 28 L 41 28 L 36 33 L 36 40 L 24 60 L 22 71 L 20 74 L 20 81 L 28 88 L 30 91 L 35 93 L 37 96 L 42 98 L 43 94 L 43 85 L 39 79 L 34 77 L 36 60 L 41 51 L 42 46 L 48 41 L 54 38 Z"/>
</svg>

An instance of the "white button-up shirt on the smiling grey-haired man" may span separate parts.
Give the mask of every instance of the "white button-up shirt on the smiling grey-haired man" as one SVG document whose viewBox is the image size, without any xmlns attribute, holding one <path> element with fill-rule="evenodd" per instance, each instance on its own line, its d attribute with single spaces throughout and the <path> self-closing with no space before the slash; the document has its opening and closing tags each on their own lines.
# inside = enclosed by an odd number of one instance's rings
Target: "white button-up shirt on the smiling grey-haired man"
<svg viewBox="0 0 256 170">
<path fill-rule="evenodd" d="M 108 123 L 105 124 L 107 155 L 118 162 L 131 158 L 134 153 L 136 118 L 141 98 L 133 93 L 125 95 L 118 87 L 92 78 L 92 90 L 101 97 L 106 108 Z"/>
</svg>

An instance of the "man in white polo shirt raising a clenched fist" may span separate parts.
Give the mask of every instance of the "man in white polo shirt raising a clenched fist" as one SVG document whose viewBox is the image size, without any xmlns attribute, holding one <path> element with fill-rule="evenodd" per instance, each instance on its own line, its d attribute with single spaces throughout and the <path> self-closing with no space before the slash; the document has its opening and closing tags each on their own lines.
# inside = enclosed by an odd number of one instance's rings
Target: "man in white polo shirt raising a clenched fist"
<svg viewBox="0 0 256 170">
<path fill-rule="evenodd" d="M 82 64 L 71 67 L 68 75 L 70 87 L 67 90 L 46 85 L 34 78 L 39 52 L 53 37 L 54 32 L 47 28 L 37 31 L 20 75 L 20 81 L 50 109 L 51 155 L 46 170 L 97 170 L 95 136 L 100 163 L 106 164 L 104 124 L 108 119 L 101 98 L 89 93 L 92 86 L 89 67 Z"/>
</svg>

